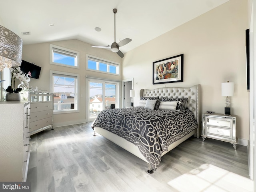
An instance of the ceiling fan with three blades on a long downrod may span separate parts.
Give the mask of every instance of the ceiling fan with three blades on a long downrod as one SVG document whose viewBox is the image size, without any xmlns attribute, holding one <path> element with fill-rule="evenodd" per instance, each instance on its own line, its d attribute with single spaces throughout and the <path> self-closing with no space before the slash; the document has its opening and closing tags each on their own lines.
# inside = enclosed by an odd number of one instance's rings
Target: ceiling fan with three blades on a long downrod
<svg viewBox="0 0 256 192">
<path fill-rule="evenodd" d="M 111 46 L 96 46 L 96 45 L 92 45 L 92 47 L 96 47 L 96 48 L 111 48 L 112 52 L 116 52 L 120 57 L 124 57 L 124 54 L 122 53 L 122 51 L 119 50 L 119 47 L 124 46 L 126 44 L 128 44 L 129 42 L 131 42 L 131 39 L 126 38 L 123 39 L 122 41 L 120 41 L 119 43 L 116 43 L 116 12 L 117 9 L 113 9 L 113 13 L 114 13 L 114 21 L 115 21 L 115 28 L 114 28 L 114 37 L 115 37 L 115 41 L 111 44 Z"/>
</svg>

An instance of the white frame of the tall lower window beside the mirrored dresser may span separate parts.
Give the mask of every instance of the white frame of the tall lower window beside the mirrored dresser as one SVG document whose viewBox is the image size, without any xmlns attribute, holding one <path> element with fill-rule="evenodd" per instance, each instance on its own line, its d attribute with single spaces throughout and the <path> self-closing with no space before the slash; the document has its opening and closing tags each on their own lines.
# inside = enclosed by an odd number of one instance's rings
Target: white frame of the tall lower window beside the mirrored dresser
<svg viewBox="0 0 256 192">
<path fill-rule="evenodd" d="M 53 114 L 65 114 L 65 113 L 77 113 L 80 112 L 80 75 L 79 74 L 74 74 L 74 73 L 68 73 L 68 72 L 62 72 L 62 71 L 54 71 L 50 70 L 50 92 L 54 94 L 54 88 L 53 88 L 53 74 L 58 74 L 60 76 L 74 76 L 76 77 L 76 86 L 75 86 L 75 91 L 76 91 L 76 110 L 70 109 L 70 110 L 62 110 L 62 111 L 53 111 Z M 53 98 L 54 100 L 54 98 Z"/>
</svg>

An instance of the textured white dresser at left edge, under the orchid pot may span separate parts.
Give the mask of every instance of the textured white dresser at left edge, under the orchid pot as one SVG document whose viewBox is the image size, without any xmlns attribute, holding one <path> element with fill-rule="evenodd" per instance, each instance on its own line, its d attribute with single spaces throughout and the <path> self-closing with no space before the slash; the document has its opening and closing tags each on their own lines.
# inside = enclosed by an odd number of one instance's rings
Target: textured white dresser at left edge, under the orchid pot
<svg viewBox="0 0 256 192">
<path fill-rule="evenodd" d="M 30 103 L 0 102 L 0 181 L 25 182 L 30 155 Z"/>
</svg>

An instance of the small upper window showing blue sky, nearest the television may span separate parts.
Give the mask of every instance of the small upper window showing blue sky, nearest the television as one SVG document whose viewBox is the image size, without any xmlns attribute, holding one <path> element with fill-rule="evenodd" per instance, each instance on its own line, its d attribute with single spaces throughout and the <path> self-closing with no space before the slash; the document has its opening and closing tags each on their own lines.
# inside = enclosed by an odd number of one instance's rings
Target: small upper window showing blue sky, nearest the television
<svg viewBox="0 0 256 192">
<path fill-rule="evenodd" d="M 50 64 L 79 69 L 79 52 L 50 44 Z"/>
</svg>

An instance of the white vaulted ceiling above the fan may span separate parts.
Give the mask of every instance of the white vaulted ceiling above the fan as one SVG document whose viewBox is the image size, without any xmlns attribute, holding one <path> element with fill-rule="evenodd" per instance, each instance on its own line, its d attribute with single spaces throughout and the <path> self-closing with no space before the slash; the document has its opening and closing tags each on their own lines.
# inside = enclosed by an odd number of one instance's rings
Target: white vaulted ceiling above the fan
<svg viewBox="0 0 256 192">
<path fill-rule="evenodd" d="M 114 42 L 116 8 L 116 42 L 132 39 L 120 48 L 125 53 L 228 1 L 0 0 L 0 25 L 18 34 L 23 44 L 78 39 L 108 46 Z"/>
</svg>

